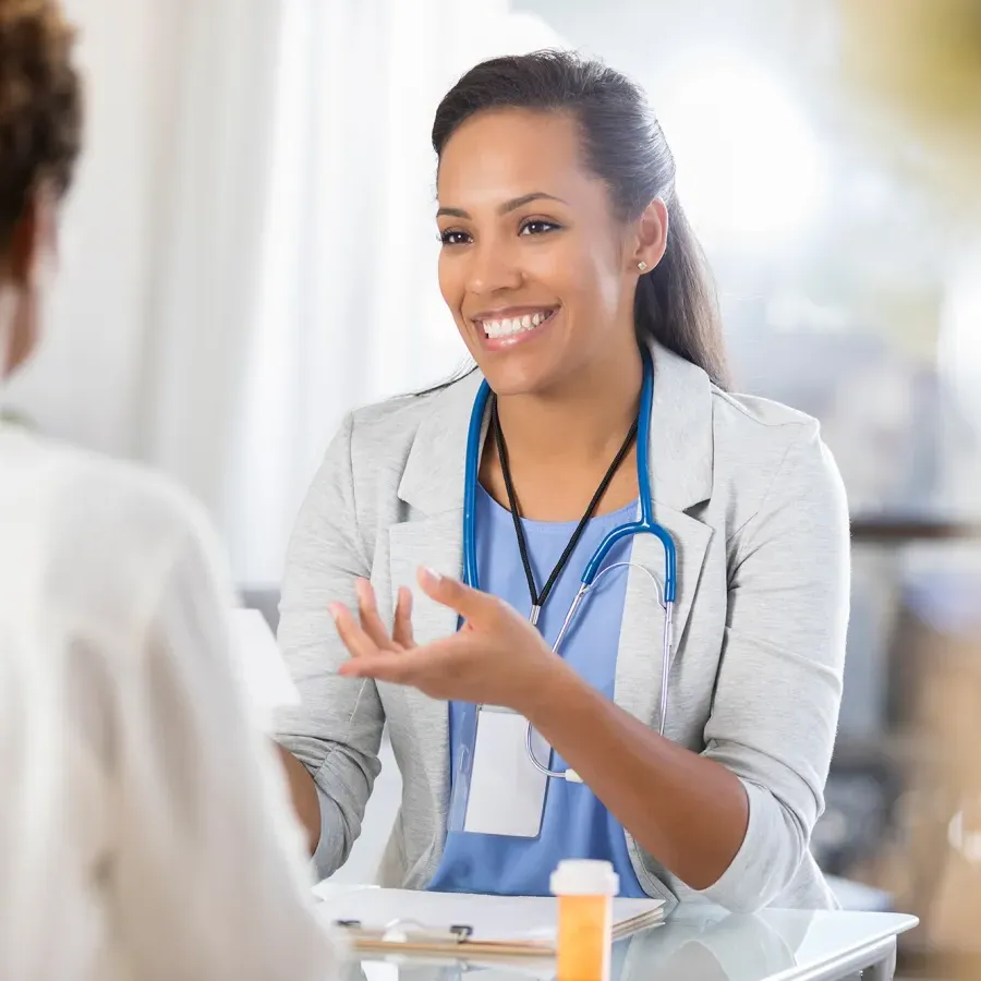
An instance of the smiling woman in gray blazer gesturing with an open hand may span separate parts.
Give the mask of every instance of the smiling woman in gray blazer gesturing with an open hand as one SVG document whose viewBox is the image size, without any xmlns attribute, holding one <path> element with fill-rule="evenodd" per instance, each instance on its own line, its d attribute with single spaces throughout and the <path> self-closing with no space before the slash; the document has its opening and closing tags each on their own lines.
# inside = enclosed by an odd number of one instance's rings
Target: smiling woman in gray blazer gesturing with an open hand
<svg viewBox="0 0 981 981">
<path fill-rule="evenodd" d="M 626 895 L 833 906 L 808 841 L 841 694 L 848 519 L 816 424 L 726 391 L 671 155 L 622 75 L 568 53 L 486 62 L 443 100 L 433 143 L 440 287 L 477 372 L 349 416 L 300 514 L 281 643 L 304 708 L 278 738 L 318 871 L 359 833 L 387 723 L 404 789 L 386 884 L 547 893 L 560 858 L 588 856 Z M 458 577 L 482 378 L 477 592 Z M 552 652 L 641 477 L 677 549 L 666 705 L 655 535 L 607 556 Z M 584 786 L 540 792 L 523 719 L 475 723 L 475 705 L 529 719 L 538 763 Z"/>
</svg>

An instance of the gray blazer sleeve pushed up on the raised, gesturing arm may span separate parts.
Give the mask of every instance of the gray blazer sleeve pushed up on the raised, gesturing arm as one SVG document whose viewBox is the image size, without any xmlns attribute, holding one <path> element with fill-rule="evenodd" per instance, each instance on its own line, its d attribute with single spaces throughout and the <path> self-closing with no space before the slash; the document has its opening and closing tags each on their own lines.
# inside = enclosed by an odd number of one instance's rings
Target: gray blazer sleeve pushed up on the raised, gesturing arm
<svg viewBox="0 0 981 981">
<path fill-rule="evenodd" d="M 845 489 L 813 423 L 728 543 L 725 639 L 704 754 L 742 780 L 749 826 L 704 895 L 730 910 L 754 911 L 780 895 L 824 810 L 849 592 Z"/>
</svg>

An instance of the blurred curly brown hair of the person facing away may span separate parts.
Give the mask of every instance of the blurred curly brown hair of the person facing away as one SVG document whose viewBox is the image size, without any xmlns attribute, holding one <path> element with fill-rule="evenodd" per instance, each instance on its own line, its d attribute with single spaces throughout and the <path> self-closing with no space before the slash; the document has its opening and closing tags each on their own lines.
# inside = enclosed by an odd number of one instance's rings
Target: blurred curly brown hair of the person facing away
<svg viewBox="0 0 981 981">
<path fill-rule="evenodd" d="M 61 196 L 82 136 L 75 33 L 59 0 L 0 0 L 0 246 L 39 187 Z"/>
</svg>

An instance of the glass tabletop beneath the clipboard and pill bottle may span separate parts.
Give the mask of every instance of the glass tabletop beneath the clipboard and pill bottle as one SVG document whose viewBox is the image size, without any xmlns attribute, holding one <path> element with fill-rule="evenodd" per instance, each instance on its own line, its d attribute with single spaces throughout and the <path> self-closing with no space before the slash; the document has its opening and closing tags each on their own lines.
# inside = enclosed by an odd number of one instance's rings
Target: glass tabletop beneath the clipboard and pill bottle
<svg viewBox="0 0 981 981">
<path fill-rule="evenodd" d="M 765 910 L 754 917 L 676 911 L 614 946 L 610 981 L 892 981 L 896 936 L 915 917 Z M 520 981 L 554 977 L 550 961 L 493 966 L 351 955 L 343 981 Z"/>
</svg>

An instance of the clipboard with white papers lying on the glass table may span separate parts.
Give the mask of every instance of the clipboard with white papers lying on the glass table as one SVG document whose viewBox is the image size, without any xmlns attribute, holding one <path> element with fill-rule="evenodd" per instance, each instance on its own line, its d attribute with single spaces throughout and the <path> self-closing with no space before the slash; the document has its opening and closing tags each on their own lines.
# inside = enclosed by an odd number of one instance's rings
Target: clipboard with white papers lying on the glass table
<svg viewBox="0 0 981 981">
<path fill-rule="evenodd" d="M 553 897 L 372 889 L 326 900 L 329 929 L 355 950 L 450 959 L 554 958 Z M 664 922 L 664 903 L 615 899 L 613 938 Z"/>
</svg>

